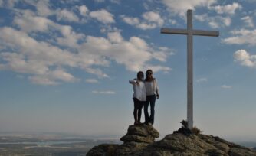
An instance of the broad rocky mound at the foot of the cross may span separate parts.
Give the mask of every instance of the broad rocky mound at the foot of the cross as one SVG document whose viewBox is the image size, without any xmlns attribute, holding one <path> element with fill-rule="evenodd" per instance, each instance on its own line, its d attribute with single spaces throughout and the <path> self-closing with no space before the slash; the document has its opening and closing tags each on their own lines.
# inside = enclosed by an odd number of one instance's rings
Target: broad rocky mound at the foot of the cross
<svg viewBox="0 0 256 156">
<path fill-rule="evenodd" d="M 136 155 L 234 155 L 256 156 L 256 151 L 212 135 L 166 135 L 160 141 L 148 145 Z"/>
</svg>

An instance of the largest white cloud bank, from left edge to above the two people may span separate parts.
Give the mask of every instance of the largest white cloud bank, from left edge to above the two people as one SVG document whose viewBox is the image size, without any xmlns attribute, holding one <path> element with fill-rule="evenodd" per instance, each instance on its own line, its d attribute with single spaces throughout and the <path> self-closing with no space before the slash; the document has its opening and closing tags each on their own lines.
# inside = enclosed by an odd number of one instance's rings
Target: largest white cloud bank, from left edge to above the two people
<svg viewBox="0 0 256 156">
<path fill-rule="evenodd" d="M 71 34 L 71 28 L 60 26 L 61 34 Z M 67 30 L 65 29 L 67 28 Z M 151 47 L 139 37 L 123 39 L 120 31 L 110 32 L 105 37 L 86 36 L 82 44 L 74 47 L 77 53 L 61 50 L 59 47 L 36 41 L 26 31 L 14 28 L 0 28 L 0 40 L 5 46 L 17 50 L 1 53 L 1 70 L 30 74 L 32 83 L 57 85 L 61 82 L 76 82 L 78 79 L 64 71 L 63 67 L 77 67 L 99 77 L 108 77 L 100 67 L 109 67 L 111 61 L 124 65 L 127 70 L 162 70 L 168 73 L 171 68 L 150 64 L 151 60 L 166 61 L 171 55 L 168 48 Z M 54 67 L 62 67 L 56 70 Z"/>
</svg>

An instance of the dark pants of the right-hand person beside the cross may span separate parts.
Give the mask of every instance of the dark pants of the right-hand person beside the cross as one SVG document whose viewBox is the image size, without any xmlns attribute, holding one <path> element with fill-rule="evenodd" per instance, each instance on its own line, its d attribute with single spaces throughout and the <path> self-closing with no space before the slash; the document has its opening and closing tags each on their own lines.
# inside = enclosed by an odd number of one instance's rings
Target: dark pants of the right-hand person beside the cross
<svg viewBox="0 0 256 156">
<path fill-rule="evenodd" d="M 146 102 L 144 103 L 144 114 L 145 114 L 145 123 L 154 123 L 155 119 L 155 102 L 156 102 L 156 95 L 146 96 Z M 150 103 L 150 116 L 148 112 L 148 107 Z"/>
</svg>

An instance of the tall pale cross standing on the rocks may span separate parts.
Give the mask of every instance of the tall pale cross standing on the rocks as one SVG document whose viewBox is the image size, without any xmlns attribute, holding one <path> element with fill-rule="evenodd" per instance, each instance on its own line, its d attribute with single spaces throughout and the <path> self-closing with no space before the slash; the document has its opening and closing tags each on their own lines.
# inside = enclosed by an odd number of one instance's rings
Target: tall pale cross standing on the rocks
<svg viewBox="0 0 256 156">
<path fill-rule="evenodd" d="M 218 37 L 218 31 L 193 30 L 192 10 L 187 11 L 187 29 L 162 28 L 162 34 L 187 35 L 187 121 L 193 127 L 193 35 Z"/>
</svg>

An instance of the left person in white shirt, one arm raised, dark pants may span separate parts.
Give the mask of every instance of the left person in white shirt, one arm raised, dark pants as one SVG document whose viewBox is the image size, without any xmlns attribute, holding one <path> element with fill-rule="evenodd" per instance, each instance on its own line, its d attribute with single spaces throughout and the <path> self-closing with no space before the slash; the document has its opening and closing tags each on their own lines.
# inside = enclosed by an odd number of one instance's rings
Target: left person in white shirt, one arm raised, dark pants
<svg viewBox="0 0 256 156">
<path fill-rule="evenodd" d="M 129 83 L 133 84 L 133 102 L 134 102 L 134 125 L 141 124 L 141 112 L 143 109 L 143 105 L 146 102 L 146 87 L 144 85 L 144 74 L 142 71 L 137 73 L 137 78 L 134 80 L 130 80 Z"/>
</svg>

